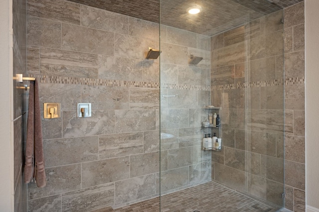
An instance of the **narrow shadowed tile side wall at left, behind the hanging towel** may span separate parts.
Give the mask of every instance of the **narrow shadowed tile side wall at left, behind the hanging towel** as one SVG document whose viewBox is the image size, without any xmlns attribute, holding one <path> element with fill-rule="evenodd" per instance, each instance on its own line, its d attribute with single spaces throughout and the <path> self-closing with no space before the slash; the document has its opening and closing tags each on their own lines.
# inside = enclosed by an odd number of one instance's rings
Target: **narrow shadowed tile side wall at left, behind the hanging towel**
<svg viewBox="0 0 319 212">
<path fill-rule="evenodd" d="M 26 1 L 12 1 L 12 28 L 13 28 L 13 76 L 26 75 Z M 27 84 L 25 81 L 24 84 Z M 22 89 L 21 89 L 22 88 Z M 26 124 L 27 92 L 23 84 L 13 80 L 13 189 L 14 211 L 26 211 L 26 185 L 23 179 L 23 153 Z"/>
</svg>

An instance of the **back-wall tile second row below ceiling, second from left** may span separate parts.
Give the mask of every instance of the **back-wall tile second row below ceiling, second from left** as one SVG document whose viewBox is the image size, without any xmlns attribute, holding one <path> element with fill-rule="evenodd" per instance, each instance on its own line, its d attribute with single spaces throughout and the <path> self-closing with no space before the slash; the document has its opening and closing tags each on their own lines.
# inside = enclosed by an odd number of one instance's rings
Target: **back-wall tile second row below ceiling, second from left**
<svg viewBox="0 0 319 212">
<path fill-rule="evenodd" d="M 62 49 L 114 55 L 114 33 L 62 23 Z"/>
</svg>

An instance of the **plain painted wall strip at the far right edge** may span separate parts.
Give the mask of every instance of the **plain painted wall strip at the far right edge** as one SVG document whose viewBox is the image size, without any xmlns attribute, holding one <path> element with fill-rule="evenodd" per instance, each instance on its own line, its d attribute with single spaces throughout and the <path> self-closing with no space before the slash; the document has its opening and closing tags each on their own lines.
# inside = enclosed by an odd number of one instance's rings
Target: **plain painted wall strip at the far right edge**
<svg viewBox="0 0 319 212">
<path fill-rule="evenodd" d="M 307 212 L 319 212 L 318 166 L 318 80 L 319 80 L 319 1 L 305 0 L 306 40 L 306 206 Z"/>
</svg>

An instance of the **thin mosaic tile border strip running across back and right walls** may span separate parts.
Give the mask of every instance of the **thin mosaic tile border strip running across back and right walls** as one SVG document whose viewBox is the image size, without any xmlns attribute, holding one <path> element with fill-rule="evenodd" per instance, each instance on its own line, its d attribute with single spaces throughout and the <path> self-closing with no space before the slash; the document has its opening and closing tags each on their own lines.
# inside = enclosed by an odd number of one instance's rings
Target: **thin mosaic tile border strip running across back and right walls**
<svg viewBox="0 0 319 212">
<path fill-rule="evenodd" d="M 258 88 L 281 85 L 297 85 L 305 84 L 305 77 L 287 78 L 286 80 L 267 80 L 250 83 L 237 83 L 218 86 L 198 86 L 198 85 L 183 85 L 183 84 L 159 84 L 152 82 L 138 81 L 123 81 L 123 80 L 104 80 L 76 77 L 59 77 L 59 76 L 44 76 L 30 75 L 39 80 L 40 83 L 56 83 L 56 84 L 81 84 L 90 86 L 119 86 L 133 88 L 161 88 L 161 89 L 176 89 L 176 90 L 195 90 L 195 91 L 218 91 L 231 89 Z"/>
</svg>

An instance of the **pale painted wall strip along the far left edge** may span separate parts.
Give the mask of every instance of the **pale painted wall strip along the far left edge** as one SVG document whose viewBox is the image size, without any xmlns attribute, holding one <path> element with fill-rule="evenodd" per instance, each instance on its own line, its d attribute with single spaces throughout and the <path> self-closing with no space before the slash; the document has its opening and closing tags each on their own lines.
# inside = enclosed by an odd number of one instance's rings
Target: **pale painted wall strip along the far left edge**
<svg viewBox="0 0 319 212">
<path fill-rule="evenodd" d="M 0 204 L 4 211 L 13 211 L 13 131 L 12 124 L 12 48 L 10 41 L 12 35 L 9 29 L 12 25 L 12 10 L 10 0 L 2 1 L 0 7 L 0 68 L 2 79 L 0 83 L 0 106 L 3 108 L 3 116 L 0 120 L 1 149 L 0 149 Z"/>
</svg>

